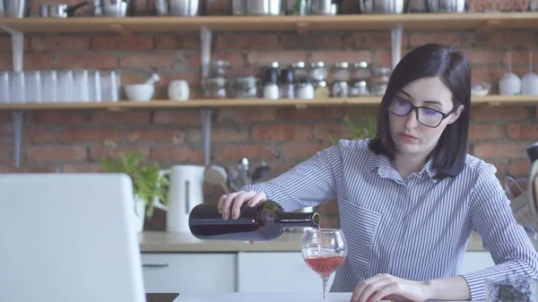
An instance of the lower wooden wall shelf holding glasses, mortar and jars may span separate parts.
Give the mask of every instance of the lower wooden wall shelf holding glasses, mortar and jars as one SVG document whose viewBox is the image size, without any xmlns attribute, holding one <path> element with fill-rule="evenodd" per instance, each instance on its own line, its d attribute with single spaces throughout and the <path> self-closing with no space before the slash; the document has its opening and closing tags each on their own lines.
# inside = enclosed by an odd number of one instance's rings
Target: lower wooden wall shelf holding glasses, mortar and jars
<svg viewBox="0 0 538 302">
<path fill-rule="evenodd" d="M 118 102 L 77 102 L 77 103 L 26 103 L 0 104 L 0 110 L 46 110 L 46 109 L 108 109 L 121 110 L 128 108 L 271 108 L 271 107 L 344 107 L 344 106 L 377 106 L 380 98 L 342 98 L 342 99 L 190 99 L 187 101 L 152 100 L 134 102 L 120 100 Z M 473 106 L 510 106 L 538 105 L 538 96 L 486 96 L 473 97 Z"/>
</svg>

